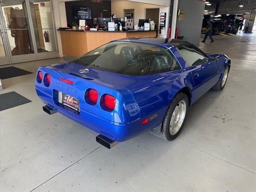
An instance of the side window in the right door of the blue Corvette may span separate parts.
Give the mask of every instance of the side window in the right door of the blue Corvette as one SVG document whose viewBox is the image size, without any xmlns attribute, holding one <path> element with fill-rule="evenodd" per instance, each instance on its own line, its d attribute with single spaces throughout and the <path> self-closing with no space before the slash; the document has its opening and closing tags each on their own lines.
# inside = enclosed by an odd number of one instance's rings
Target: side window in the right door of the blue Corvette
<svg viewBox="0 0 256 192">
<path fill-rule="evenodd" d="M 181 45 L 176 49 L 189 67 L 207 62 L 207 55 L 192 44 Z"/>
</svg>

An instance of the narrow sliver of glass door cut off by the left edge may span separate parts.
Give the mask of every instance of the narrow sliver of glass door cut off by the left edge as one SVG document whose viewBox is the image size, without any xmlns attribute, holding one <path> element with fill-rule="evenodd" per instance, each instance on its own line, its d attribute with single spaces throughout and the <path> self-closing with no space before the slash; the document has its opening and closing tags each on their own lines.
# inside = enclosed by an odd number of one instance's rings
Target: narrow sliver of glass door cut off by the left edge
<svg viewBox="0 0 256 192">
<path fill-rule="evenodd" d="M 0 65 L 6 65 L 10 64 L 10 57 L 6 46 L 6 38 L 4 30 L 2 28 L 2 24 L 3 22 L 1 21 L 0 17 Z"/>
</svg>

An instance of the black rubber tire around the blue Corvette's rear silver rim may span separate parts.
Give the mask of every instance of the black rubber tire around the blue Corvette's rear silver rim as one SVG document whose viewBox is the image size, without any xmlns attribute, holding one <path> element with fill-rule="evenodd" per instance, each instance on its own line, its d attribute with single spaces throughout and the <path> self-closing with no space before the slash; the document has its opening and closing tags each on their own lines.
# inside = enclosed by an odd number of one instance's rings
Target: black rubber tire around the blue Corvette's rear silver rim
<svg viewBox="0 0 256 192">
<path fill-rule="evenodd" d="M 174 109 L 176 108 L 176 106 L 178 106 L 179 102 L 182 102 L 182 101 L 186 102 L 186 112 L 185 112 L 184 120 L 183 120 L 182 125 L 180 126 L 178 132 L 176 132 L 176 134 L 171 134 L 170 133 L 170 121 L 171 121 L 171 118 L 172 118 L 172 114 L 173 114 Z M 174 97 L 170 106 L 168 107 L 168 110 L 166 111 L 166 114 L 164 116 L 164 120 L 162 122 L 162 129 L 161 129 L 161 132 L 160 132 L 160 137 L 161 138 L 163 138 L 165 140 L 168 140 L 168 141 L 171 141 L 171 140 L 174 140 L 180 134 L 180 132 L 181 132 L 183 126 L 184 126 L 184 123 L 186 121 L 186 116 L 187 116 L 187 112 L 188 112 L 188 105 L 189 105 L 188 96 L 186 94 L 178 93 Z"/>
</svg>

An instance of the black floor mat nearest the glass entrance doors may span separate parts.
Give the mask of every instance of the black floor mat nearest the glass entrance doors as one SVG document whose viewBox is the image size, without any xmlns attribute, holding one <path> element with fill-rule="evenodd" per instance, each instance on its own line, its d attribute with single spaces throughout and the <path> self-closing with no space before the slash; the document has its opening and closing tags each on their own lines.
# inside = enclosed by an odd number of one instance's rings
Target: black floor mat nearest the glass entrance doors
<svg viewBox="0 0 256 192">
<path fill-rule="evenodd" d="M 26 71 L 20 68 L 12 67 L 12 66 L 4 67 L 4 68 L 0 68 L 0 79 L 7 79 L 7 78 L 27 75 L 31 73 L 32 72 L 30 71 Z"/>
</svg>

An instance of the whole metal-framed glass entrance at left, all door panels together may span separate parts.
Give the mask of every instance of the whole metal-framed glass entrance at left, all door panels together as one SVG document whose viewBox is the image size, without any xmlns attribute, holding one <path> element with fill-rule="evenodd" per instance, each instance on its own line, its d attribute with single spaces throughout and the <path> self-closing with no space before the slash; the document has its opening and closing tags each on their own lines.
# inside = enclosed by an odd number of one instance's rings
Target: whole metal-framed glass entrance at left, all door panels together
<svg viewBox="0 0 256 192">
<path fill-rule="evenodd" d="M 49 0 L 2 0 L 0 9 L 11 64 L 58 56 Z"/>
</svg>

